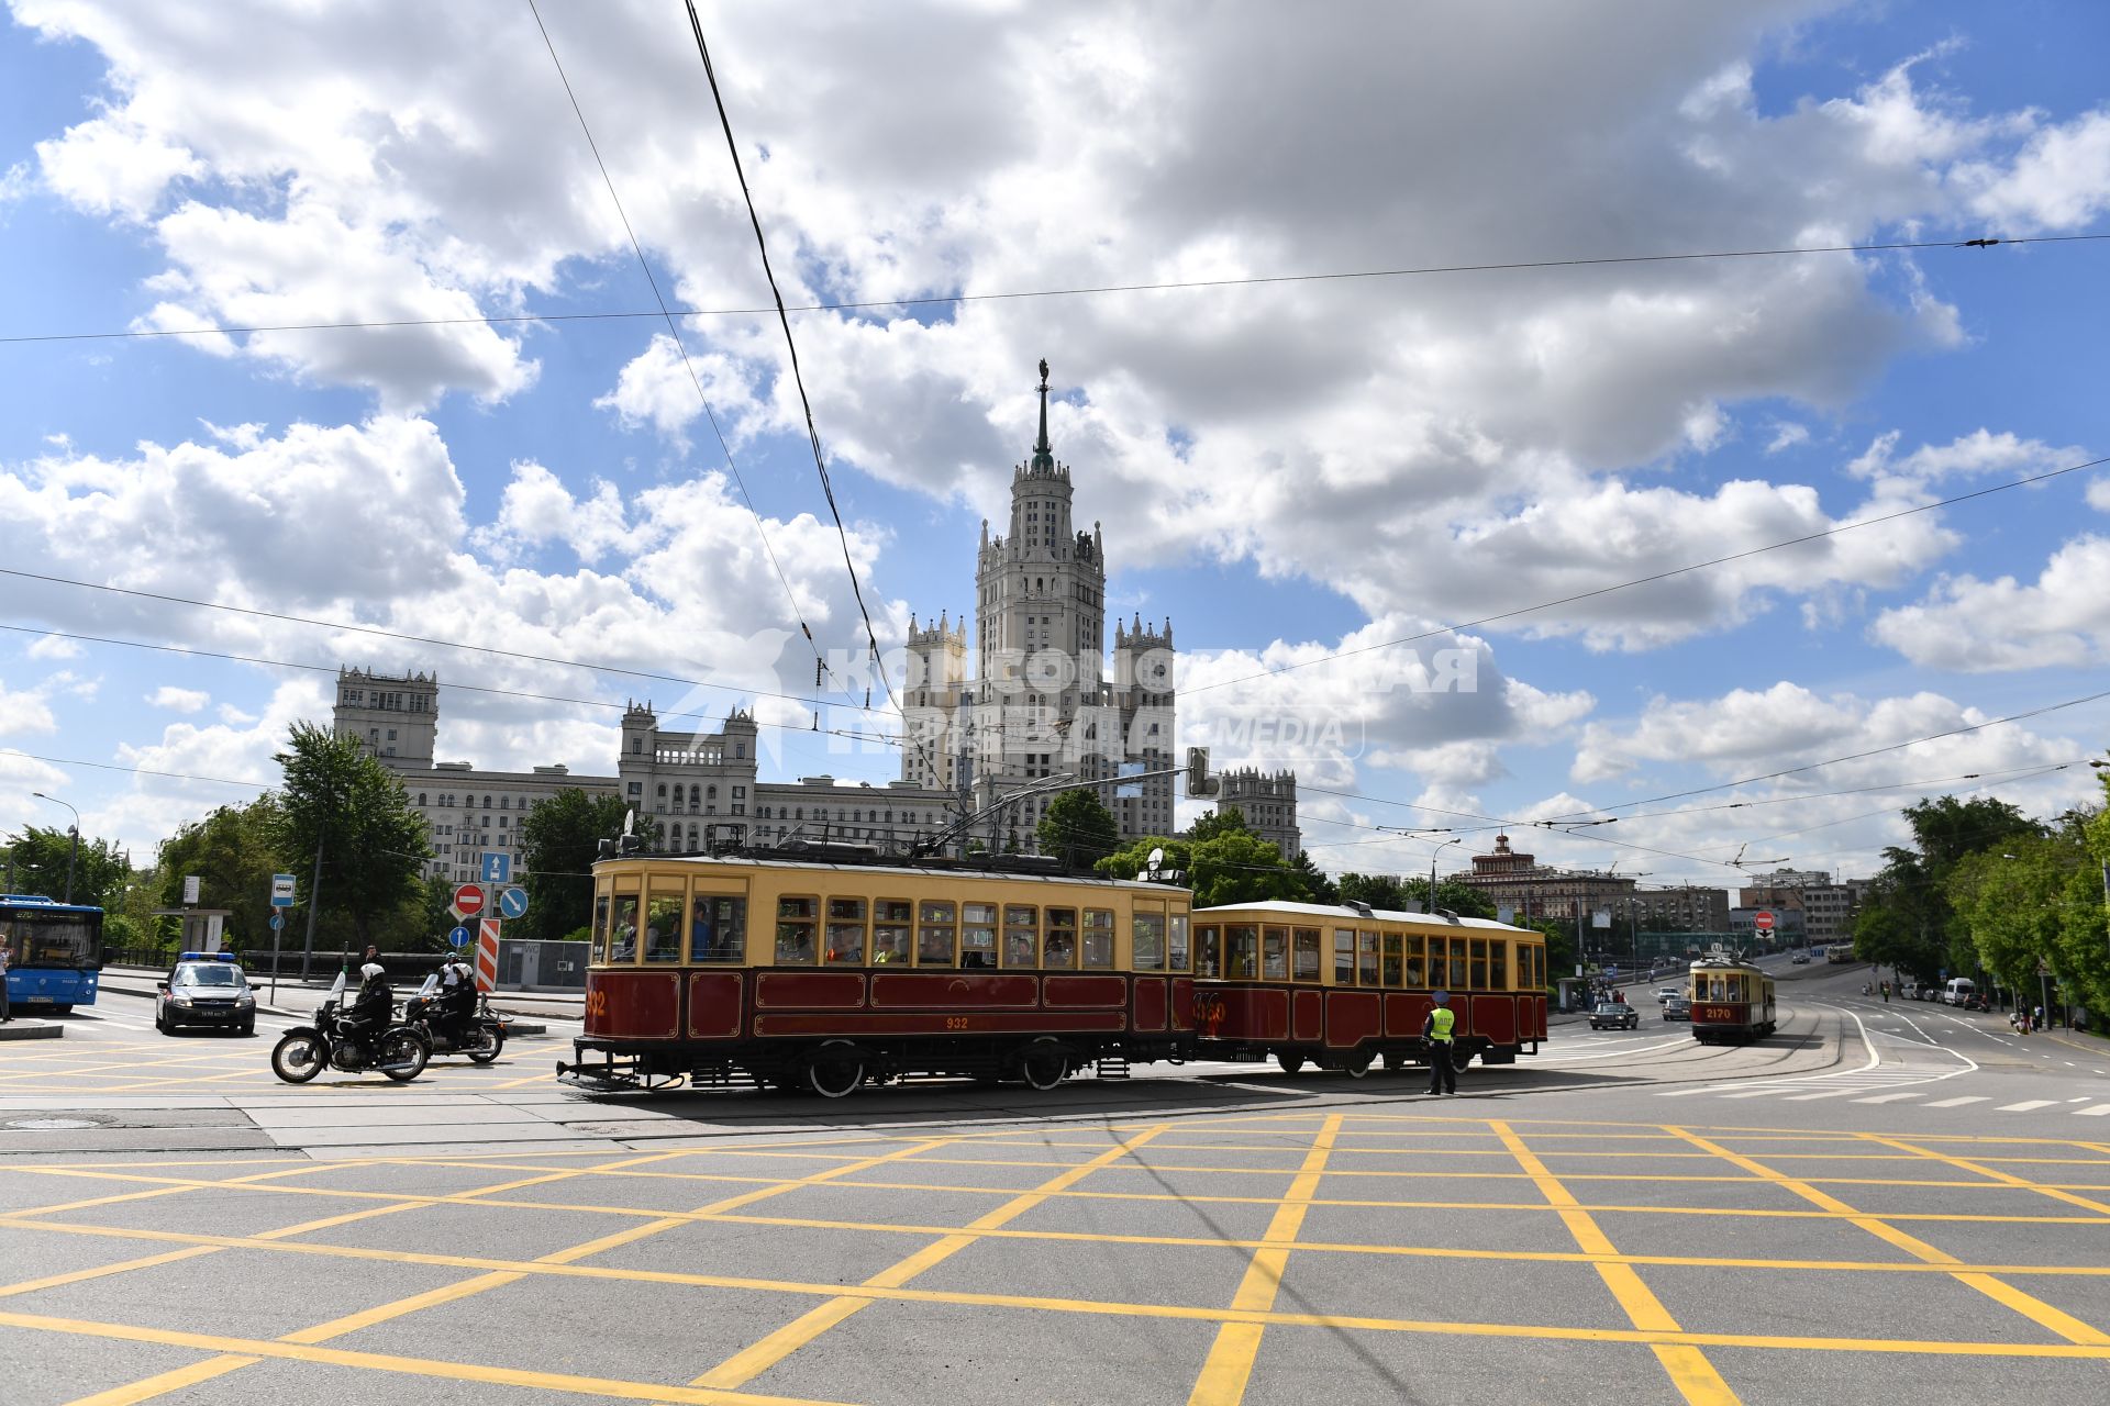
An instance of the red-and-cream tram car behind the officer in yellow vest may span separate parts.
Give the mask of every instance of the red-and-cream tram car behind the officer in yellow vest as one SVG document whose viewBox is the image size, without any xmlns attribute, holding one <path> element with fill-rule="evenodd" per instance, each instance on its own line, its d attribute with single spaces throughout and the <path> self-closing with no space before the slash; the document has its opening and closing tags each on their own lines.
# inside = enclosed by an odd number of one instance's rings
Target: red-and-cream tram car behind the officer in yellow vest
<svg viewBox="0 0 2110 1406">
<path fill-rule="evenodd" d="M 1456 1014 L 1454 1060 L 1515 1065 L 1547 1037 L 1547 942 L 1477 917 L 1308 902 L 1194 913 L 1194 1027 L 1205 1058 L 1306 1065 L 1361 1079 L 1426 1062 L 1435 993 Z"/>
</svg>

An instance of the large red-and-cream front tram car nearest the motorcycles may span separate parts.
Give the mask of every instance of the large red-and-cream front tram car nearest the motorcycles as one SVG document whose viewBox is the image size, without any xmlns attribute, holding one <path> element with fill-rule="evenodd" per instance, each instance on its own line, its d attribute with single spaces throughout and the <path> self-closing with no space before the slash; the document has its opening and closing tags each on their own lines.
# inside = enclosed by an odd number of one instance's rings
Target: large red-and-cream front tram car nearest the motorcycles
<svg viewBox="0 0 2110 1406">
<path fill-rule="evenodd" d="M 593 887 L 580 1088 L 1049 1090 L 1192 1050 L 1179 887 L 757 856 L 601 860 Z"/>
</svg>

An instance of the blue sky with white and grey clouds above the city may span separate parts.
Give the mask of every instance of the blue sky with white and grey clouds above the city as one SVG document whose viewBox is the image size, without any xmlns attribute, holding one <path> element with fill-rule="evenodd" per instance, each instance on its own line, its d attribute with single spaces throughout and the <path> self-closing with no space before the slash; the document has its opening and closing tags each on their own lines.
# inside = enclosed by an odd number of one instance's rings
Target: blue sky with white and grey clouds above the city
<svg viewBox="0 0 2110 1406">
<path fill-rule="evenodd" d="M 660 287 L 760 306 L 679 6 L 544 17 Z M 2110 232 L 2099 6 L 1327 6 L 1255 34 L 1150 6 L 743 4 L 705 25 L 791 301 L 2068 240 L 793 325 L 882 645 L 971 605 L 1047 356 L 1110 613 L 1173 618 L 1184 740 L 1293 767 L 1331 868 L 1426 864 L 1380 824 L 1483 847 L 1498 822 L 1810 767 L 1530 847 L 1650 881 L 1734 885 L 1739 850 L 1865 875 L 1920 790 L 2038 814 L 2097 795 L 2106 702 L 1899 744 L 2102 687 L 2099 470 L 1454 626 L 2110 451 L 2110 240 L 2072 240 Z M 0 74 L 0 337 L 654 306 L 525 11 L 19 0 Z M 441 755 L 494 767 L 608 769 L 631 696 L 722 717 L 810 694 L 785 632 L 804 618 L 855 660 L 861 626 L 781 333 L 690 318 L 684 348 L 760 531 L 650 318 L 0 341 L 15 569 L 580 664 L 8 578 L 0 831 L 63 822 L 46 790 L 139 852 L 245 799 L 285 727 L 327 712 L 327 675 L 295 664 L 603 704 L 445 694 Z M 1409 658 L 1471 660 L 1477 687 L 1416 691 Z M 760 706 L 766 776 L 895 774 L 800 731 L 806 704 Z M 1241 742 L 1283 719 L 1350 746 Z M 1834 763 L 1853 753 L 1876 755 Z M 1768 805 L 1701 809 L 1730 799 Z"/>
</svg>

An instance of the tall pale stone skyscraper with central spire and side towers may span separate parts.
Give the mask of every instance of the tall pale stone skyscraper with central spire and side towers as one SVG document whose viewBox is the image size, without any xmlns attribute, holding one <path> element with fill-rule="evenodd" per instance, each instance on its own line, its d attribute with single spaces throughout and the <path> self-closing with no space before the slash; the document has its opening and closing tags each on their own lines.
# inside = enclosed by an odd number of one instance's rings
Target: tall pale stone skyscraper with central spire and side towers
<svg viewBox="0 0 2110 1406">
<path fill-rule="evenodd" d="M 1011 474 L 1009 531 L 992 538 L 981 523 L 973 672 L 966 620 L 909 624 L 901 776 L 958 790 L 975 809 L 1044 778 L 1106 782 L 1099 799 L 1123 835 L 1169 835 L 1173 778 L 1118 778 L 1173 765 L 1173 626 L 1116 620 L 1108 672 L 1104 535 L 1099 523 L 1076 531 L 1070 506 L 1042 360 L 1040 436 Z M 1049 799 L 1006 807 L 975 837 L 1030 850 Z"/>
</svg>

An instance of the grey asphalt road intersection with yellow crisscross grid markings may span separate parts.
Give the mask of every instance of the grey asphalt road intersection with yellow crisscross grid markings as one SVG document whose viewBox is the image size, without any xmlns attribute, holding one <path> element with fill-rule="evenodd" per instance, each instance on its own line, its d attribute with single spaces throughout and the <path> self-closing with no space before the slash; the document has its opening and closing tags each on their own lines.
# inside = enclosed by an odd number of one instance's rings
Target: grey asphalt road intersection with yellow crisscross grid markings
<svg viewBox="0 0 2110 1406">
<path fill-rule="evenodd" d="M 0 1400 L 2110 1395 L 2110 1046 L 1781 978 L 1758 1046 L 1644 995 L 1443 1100 L 1224 1065 L 584 1098 L 563 1027 L 291 1088 L 285 1020 L 106 997 L 0 1046 Z"/>
</svg>

